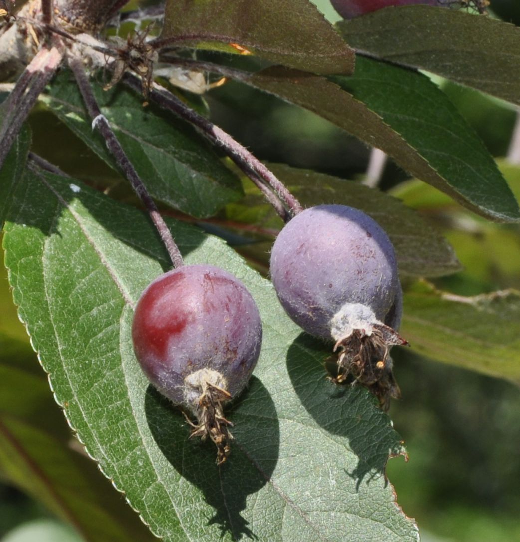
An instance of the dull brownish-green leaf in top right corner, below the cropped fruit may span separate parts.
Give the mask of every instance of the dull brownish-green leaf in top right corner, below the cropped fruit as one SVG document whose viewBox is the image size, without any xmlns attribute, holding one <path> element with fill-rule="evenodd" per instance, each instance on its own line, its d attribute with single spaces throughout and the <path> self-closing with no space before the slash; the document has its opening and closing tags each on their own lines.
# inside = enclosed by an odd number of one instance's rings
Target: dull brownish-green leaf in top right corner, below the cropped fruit
<svg viewBox="0 0 520 542">
<path fill-rule="evenodd" d="M 338 29 L 358 53 L 520 104 L 520 28 L 512 24 L 421 5 L 375 11 Z"/>
</svg>

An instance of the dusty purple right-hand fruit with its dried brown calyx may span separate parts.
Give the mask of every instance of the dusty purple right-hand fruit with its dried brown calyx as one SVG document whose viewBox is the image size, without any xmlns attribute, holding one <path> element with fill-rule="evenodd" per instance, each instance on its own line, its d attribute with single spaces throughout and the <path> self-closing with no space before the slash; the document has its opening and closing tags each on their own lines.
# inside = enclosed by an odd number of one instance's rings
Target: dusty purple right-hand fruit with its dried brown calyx
<svg viewBox="0 0 520 542">
<path fill-rule="evenodd" d="M 319 205 L 296 215 L 271 253 L 271 278 L 290 317 L 335 341 L 338 383 L 364 384 L 388 409 L 399 397 L 389 349 L 408 344 L 397 328 L 402 291 L 388 235 L 364 212 Z"/>
</svg>

